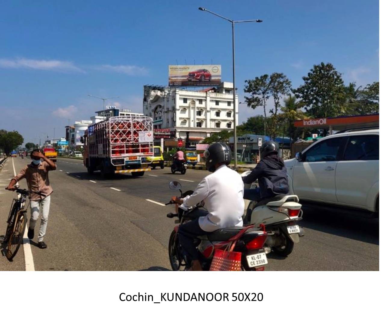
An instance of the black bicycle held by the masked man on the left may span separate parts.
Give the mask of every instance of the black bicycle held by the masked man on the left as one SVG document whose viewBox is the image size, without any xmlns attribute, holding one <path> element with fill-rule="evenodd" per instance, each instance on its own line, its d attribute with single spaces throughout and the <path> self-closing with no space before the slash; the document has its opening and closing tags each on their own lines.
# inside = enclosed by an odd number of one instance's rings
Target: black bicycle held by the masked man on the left
<svg viewBox="0 0 381 312">
<path fill-rule="evenodd" d="M 16 256 L 24 236 L 27 222 L 27 209 L 24 209 L 24 207 L 27 196 L 31 193 L 43 196 L 40 191 L 28 191 L 26 189 L 22 190 L 19 188 L 16 189 L 16 193 L 21 196 L 18 199 L 14 198 L 12 201 L 11 210 L 6 221 L 8 225 L 6 227 L 5 238 L 3 240 L 3 243 L 6 244 L 6 258 L 8 260 L 12 260 L 14 256 Z"/>
</svg>

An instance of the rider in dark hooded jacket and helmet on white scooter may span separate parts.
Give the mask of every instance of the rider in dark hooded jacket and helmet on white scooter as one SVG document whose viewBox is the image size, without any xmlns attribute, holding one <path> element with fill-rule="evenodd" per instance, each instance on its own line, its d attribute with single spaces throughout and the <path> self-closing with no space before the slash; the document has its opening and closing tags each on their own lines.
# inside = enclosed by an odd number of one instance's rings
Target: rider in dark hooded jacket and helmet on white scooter
<svg viewBox="0 0 381 312">
<path fill-rule="evenodd" d="M 249 175 L 242 178 L 245 184 L 258 179 L 259 188 L 245 189 L 243 198 L 260 201 L 288 193 L 287 169 L 283 159 L 278 156 L 278 149 L 278 143 L 274 141 L 267 141 L 261 146 L 261 161 Z"/>
</svg>

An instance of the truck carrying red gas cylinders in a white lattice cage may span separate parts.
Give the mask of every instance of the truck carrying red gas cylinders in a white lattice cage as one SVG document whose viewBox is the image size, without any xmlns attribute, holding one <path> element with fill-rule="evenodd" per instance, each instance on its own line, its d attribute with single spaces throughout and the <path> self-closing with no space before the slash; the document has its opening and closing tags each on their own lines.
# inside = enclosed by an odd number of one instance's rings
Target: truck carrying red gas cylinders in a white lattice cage
<svg viewBox="0 0 381 312">
<path fill-rule="evenodd" d="M 100 170 L 101 177 L 131 173 L 141 177 L 154 156 L 152 118 L 141 114 L 115 116 L 92 124 L 83 135 L 83 165 L 89 174 Z"/>
</svg>

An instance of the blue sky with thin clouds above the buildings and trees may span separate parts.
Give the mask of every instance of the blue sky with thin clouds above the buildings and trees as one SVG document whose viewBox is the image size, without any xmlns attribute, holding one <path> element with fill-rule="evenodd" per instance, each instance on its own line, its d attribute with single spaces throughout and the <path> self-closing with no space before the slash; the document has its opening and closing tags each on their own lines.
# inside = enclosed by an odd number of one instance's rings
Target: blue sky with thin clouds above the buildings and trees
<svg viewBox="0 0 381 312">
<path fill-rule="evenodd" d="M 330 62 L 346 84 L 379 80 L 379 4 L 359 1 L 3 1 L 0 11 L 0 129 L 25 142 L 64 135 L 101 97 L 142 111 L 144 84 L 168 83 L 168 65 L 222 65 L 232 81 L 230 23 L 236 25 L 236 84 L 283 72 L 298 87 L 313 64 Z M 116 103 L 115 103 L 116 102 Z M 269 105 L 271 108 L 271 104 Z M 240 120 L 261 114 L 240 106 Z"/>
</svg>

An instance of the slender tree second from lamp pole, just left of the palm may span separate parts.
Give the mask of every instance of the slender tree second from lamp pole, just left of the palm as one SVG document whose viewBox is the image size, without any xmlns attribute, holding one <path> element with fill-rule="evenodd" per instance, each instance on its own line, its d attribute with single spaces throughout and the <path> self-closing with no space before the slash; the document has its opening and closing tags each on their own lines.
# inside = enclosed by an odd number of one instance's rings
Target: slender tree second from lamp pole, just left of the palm
<svg viewBox="0 0 381 312">
<path fill-rule="evenodd" d="M 275 138 L 277 135 L 277 124 L 278 120 L 278 110 L 281 108 L 280 99 L 286 95 L 290 94 L 291 81 L 282 72 L 273 72 L 270 76 L 270 93 L 274 98 L 274 108 L 270 109 L 271 113 L 271 127 L 270 136 Z"/>
</svg>

